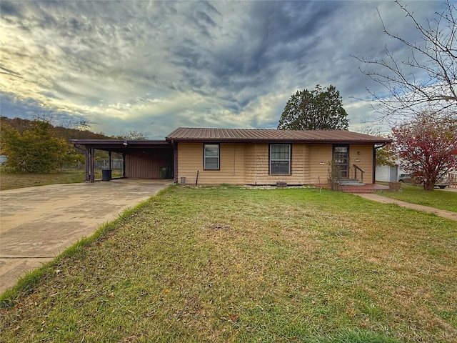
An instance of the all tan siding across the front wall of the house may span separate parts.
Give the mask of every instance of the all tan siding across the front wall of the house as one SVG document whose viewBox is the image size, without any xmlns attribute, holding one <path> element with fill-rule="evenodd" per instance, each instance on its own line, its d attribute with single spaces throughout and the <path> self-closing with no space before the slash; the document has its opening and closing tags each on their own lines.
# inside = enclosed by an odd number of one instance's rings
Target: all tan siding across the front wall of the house
<svg viewBox="0 0 457 343">
<path fill-rule="evenodd" d="M 332 151 L 333 144 L 291 144 L 291 175 L 271 175 L 268 143 L 221 143 L 220 170 L 204 170 L 203 143 L 179 143 L 178 181 L 186 177 L 187 184 L 195 184 L 196 172 L 199 171 L 199 184 L 273 185 L 278 181 L 287 182 L 288 185 L 326 184 Z M 366 170 L 363 181 L 371 183 L 372 151 L 371 144 L 353 144 L 349 147 L 350 177 L 354 175 L 353 163 L 356 163 Z M 354 162 L 356 158 L 360 162 Z"/>
</svg>

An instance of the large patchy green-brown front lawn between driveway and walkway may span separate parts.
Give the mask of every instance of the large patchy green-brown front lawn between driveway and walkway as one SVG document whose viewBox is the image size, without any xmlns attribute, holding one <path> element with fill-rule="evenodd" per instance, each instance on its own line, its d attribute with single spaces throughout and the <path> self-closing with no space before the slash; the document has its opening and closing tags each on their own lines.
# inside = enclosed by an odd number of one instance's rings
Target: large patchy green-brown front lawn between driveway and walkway
<svg viewBox="0 0 457 343">
<path fill-rule="evenodd" d="M 456 222 L 171 187 L 0 298 L 4 342 L 457 342 Z M 9 304 L 14 306 L 7 306 Z"/>
</svg>

